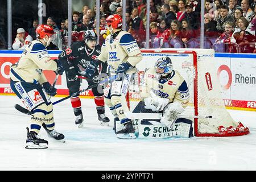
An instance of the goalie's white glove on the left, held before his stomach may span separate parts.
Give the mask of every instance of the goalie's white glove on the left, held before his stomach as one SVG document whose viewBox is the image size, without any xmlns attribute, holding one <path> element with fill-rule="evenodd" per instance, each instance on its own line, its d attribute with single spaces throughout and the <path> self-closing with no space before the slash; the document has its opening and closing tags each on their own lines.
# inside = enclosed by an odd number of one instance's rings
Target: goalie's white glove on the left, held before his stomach
<svg viewBox="0 0 256 182">
<path fill-rule="evenodd" d="M 151 97 L 144 98 L 145 109 L 151 109 L 152 111 L 162 111 L 164 107 L 169 103 L 168 98 L 162 98 L 155 95 L 152 90 L 150 91 Z"/>
</svg>

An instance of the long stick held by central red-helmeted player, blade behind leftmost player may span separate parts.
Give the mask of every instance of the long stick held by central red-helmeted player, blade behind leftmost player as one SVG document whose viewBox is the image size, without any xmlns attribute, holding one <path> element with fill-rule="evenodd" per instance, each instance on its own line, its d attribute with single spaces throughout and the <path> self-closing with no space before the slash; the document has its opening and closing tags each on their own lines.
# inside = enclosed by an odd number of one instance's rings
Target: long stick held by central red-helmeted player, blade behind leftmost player
<svg viewBox="0 0 256 182">
<path fill-rule="evenodd" d="M 105 80 L 102 80 L 102 81 L 100 81 L 100 82 L 97 82 L 96 84 L 93 84 L 93 85 L 88 86 L 88 88 L 86 88 L 86 89 L 82 89 L 82 90 L 80 90 L 79 92 L 73 93 L 71 96 L 67 96 L 67 97 L 61 98 L 60 100 L 53 102 L 52 105 L 58 104 L 59 102 L 62 102 L 62 101 L 64 101 L 64 100 L 67 100 L 67 99 L 70 98 L 70 97 L 77 96 L 77 94 L 80 94 L 80 93 L 82 93 L 82 92 L 85 92 L 86 90 L 92 89 L 92 88 L 94 88 L 95 86 L 98 86 L 98 84 L 104 84 L 105 82 L 114 80 L 114 79 L 117 78 L 117 77 L 118 77 L 117 75 L 114 75 L 114 76 L 112 76 L 112 77 L 106 78 Z M 26 108 L 24 108 L 24 107 L 22 107 L 22 106 L 20 106 L 20 105 L 18 105 L 18 104 L 15 104 L 14 107 L 15 107 L 16 110 L 18 110 L 18 111 L 20 111 L 20 112 L 22 112 L 22 113 L 24 113 L 24 114 L 27 114 L 27 115 L 34 114 L 33 111 L 29 111 L 29 110 L 27 110 Z"/>
</svg>

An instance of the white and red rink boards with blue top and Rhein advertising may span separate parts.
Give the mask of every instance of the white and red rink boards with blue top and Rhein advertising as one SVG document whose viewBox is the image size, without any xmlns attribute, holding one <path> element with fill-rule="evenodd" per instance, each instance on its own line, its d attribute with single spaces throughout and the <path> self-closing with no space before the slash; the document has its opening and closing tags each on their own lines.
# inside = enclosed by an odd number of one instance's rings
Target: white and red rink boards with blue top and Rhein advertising
<svg viewBox="0 0 256 182">
<path fill-rule="evenodd" d="M 22 51 L 0 50 L 0 94 L 14 94 L 10 89 L 10 65 L 19 60 Z M 52 59 L 56 59 L 60 51 L 49 51 Z M 221 92 L 228 109 L 256 111 L 256 55 L 215 53 L 216 74 L 220 78 Z M 55 73 L 44 71 L 52 83 Z M 56 88 L 57 96 L 67 96 L 65 75 L 59 76 Z M 84 86 L 84 87 L 83 87 Z M 86 88 L 86 81 L 81 88 Z M 91 90 L 83 93 L 83 97 L 92 98 Z"/>
</svg>

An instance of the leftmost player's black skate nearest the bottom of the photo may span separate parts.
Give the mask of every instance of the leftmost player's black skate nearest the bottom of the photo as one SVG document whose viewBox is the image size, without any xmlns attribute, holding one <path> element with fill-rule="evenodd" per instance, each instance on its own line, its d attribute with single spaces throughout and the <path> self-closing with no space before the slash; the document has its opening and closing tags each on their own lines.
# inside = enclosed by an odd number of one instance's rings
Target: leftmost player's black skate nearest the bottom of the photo
<svg viewBox="0 0 256 182">
<path fill-rule="evenodd" d="M 28 149 L 45 149 L 48 148 L 47 140 L 38 137 L 35 131 L 29 131 L 27 127 L 26 147 Z"/>
</svg>

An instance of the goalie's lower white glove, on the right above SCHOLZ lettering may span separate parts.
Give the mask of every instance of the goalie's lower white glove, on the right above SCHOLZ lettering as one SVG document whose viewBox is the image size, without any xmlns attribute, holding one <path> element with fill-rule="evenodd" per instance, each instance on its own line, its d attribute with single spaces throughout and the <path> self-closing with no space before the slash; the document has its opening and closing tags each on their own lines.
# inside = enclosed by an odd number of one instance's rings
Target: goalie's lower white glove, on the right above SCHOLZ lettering
<svg viewBox="0 0 256 182">
<path fill-rule="evenodd" d="M 179 114 L 184 110 L 179 102 L 170 103 L 164 108 L 163 117 L 160 122 L 171 129 L 177 118 L 179 118 Z"/>
</svg>

